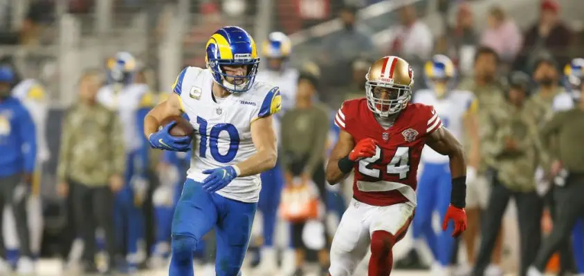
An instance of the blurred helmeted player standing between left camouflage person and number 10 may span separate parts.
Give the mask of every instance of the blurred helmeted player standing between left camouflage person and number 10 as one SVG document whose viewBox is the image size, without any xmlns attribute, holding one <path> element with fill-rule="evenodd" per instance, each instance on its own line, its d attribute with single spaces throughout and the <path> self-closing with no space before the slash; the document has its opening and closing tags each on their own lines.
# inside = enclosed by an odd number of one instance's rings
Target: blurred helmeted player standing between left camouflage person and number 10
<svg viewBox="0 0 584 276">
<path fill-rule="evenodd" d="M 127 164 L 125 187 L 116 194 L 117 241 L 125 242 L 129 270 L 136 270 L 145 260 L 144 216 L 141 204 L 146 197 L 148 181 L 148 141 L 142 135 L 144 118 L 154 105 L 152 93 L 145 83 L 134 83 L 136 59 L 129 52 L 118 52 L 107 64 L 108 84 L 98 92 L 100 103 L 117 110 L 122 122 Z"/>
</svg>

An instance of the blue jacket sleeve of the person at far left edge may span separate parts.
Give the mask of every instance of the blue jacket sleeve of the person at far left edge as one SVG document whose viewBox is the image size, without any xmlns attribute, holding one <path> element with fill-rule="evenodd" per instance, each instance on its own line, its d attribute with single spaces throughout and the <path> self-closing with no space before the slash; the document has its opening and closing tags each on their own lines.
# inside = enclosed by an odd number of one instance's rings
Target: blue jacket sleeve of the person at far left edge
<svg viewBox="0 0 584 276">
<path fill-rule="evenodd" d="M 22 155 L 24 161 L 24 171 L 32 173 L 37 162 L 37 134 L 35 123 L 28 112 L 23 112 L 20 121 L 20 138 L 22 141 Z"/>
</svg>

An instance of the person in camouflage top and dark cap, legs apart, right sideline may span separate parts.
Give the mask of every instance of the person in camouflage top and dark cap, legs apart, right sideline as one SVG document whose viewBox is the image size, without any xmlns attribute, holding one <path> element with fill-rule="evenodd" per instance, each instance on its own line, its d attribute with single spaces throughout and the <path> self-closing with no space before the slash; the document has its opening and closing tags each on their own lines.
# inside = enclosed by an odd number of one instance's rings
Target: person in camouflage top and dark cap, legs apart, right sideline
<svg viewBox="0 0 584 276">
<path fill-rule="evenodd" d="M 541 161 L 541 143 L 537 121 L 531 116 L 527 104 L 529 76 L 513 72 L 509 77 L 507 102 L 490 110 L 490 124 L 485 124 L 484 134 L 491 150 L 486 163 L 491 166 L 493 186 L 486 209 L 480 250 L 473 275 L 484 275 L 491 261 L 491 253 L 499 234 L 501 222 L 509 199 L 515 199 L 520 231 L 520 273 L 536 257 L 540 246 L 540 220 L 543 202 L 536 193 L 533 179 Z"/>
</svg>

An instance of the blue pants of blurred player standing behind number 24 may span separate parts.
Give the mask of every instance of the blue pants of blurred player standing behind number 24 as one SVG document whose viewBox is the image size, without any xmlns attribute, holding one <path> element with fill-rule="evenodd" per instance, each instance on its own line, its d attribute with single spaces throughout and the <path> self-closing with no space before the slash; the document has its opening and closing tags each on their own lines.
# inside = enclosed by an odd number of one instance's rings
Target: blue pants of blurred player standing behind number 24
<svg viewBox="0 0 584 276">
<path fill-rule="evenodd" d="M 446 231 L 436 233 L 432 227 L 432 217 L 437 211 L 444 219 L 450 204 L 452 179 L 446 164 L 423 165 L 423 172 L 418 182 L 416 215 L 412 224 L 414 237 L 426 240 L 434 258 L 441 266 L 448 266 L 453 255 L 455 239 L 452 237 L 454 226 L 448 224 Z"/>
</svg>

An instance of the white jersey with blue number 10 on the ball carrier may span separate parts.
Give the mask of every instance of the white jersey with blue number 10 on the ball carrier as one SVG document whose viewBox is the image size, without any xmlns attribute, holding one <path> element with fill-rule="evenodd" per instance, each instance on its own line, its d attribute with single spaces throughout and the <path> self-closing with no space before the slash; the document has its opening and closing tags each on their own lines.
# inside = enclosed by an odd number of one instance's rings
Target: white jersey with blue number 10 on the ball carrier
<svg viewBox="0 0 584 276">
<path fill-rule="evenodd" d="M 251 157 L 256 152 L 251 122 L 275 114 L 282 106 L 277 86 L 255 81 L 250 90 L 219 99 L 212 95 L 213 82 L 210 70 L 187 67 L 173 85 L 195 129 L 187 177 L 197 182 L 208 177 L 203 170 L 235 165 Z M 261 188 L 259 175 L 251 175 L 233 179 L 217 193 L 229 199 L 257 202 Z"/>
</svg>

